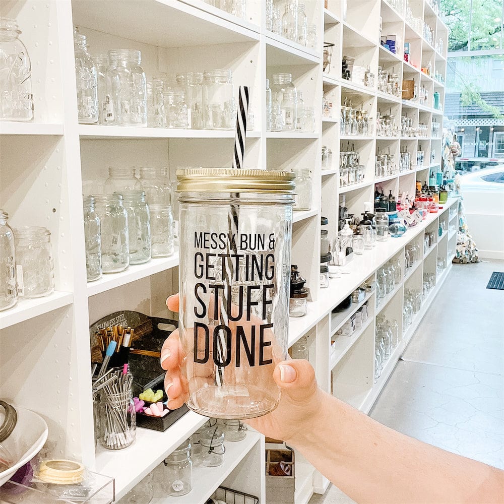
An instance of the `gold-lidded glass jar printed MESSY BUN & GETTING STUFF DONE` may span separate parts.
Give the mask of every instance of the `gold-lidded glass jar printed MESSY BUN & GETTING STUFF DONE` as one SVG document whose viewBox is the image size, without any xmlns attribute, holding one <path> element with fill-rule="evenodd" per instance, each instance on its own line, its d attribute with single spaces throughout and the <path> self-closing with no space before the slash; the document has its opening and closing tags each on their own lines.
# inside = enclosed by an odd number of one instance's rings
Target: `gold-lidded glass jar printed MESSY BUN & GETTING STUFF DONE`
<svg viewBox="0 0 504 504">
<path fill-rule="evenodd" d="M 253 418 L 278 404 L 273 370 L 287 354 L 293 178 L 177 170 L 187 405 L 206 416 Z"/>
</svg>

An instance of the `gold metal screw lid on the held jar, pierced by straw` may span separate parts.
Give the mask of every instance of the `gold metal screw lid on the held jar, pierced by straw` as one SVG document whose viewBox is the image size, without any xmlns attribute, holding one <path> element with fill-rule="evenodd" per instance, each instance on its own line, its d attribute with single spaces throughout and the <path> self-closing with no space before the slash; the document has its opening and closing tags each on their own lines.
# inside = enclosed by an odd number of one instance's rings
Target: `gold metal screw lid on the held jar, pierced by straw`
<svg viewBox="0 0 504 504">
<path fill-rule="evenodd" d="M 292 194 L 294 176 L 290 171 L 184 168 L 177 170 L 177 191 Z"/>
</svg>

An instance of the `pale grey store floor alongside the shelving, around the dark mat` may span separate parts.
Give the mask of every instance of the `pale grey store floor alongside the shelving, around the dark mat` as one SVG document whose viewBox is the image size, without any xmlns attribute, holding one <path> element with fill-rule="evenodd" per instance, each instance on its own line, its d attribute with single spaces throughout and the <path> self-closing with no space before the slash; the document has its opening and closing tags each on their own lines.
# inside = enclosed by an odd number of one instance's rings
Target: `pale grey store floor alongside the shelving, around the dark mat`
<svg viewBox="0 0 504 504">
<path fill-rule="evenodd" d="M 503 261 L 454 264 L 370 416 L 425 443 L 504 469 Z M 309 504 L 351 504 L 330 486 Z"/>
</svg>

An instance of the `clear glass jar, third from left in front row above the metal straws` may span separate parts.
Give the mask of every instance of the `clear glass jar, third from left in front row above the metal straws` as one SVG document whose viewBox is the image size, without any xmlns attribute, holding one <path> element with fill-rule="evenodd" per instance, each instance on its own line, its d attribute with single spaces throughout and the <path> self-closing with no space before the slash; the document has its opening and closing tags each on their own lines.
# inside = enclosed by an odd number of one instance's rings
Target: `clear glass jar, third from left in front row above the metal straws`
<svg viewBox="0 0 504 504">
<path fill-rule="evenodd" d="M 147 263 L 151 259 L 151 217 L 145 192 L 122 191 L 121 195 L 128 212 L 130 264 Z"/>
</svg>

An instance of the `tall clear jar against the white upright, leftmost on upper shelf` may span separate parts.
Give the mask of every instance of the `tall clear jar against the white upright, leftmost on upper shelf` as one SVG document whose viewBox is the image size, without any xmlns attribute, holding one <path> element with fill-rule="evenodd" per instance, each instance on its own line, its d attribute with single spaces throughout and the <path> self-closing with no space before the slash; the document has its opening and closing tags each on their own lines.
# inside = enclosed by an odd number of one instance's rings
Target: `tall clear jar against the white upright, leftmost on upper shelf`
<svg viewBox="0 0 504 504">
<path fill-rule="evenodd" d="M 81 33 L 74 33 L 74 53 L 79 122 L 95 124 L 98 122 L 98 77 L 86 37 Z"/>
</svg>

